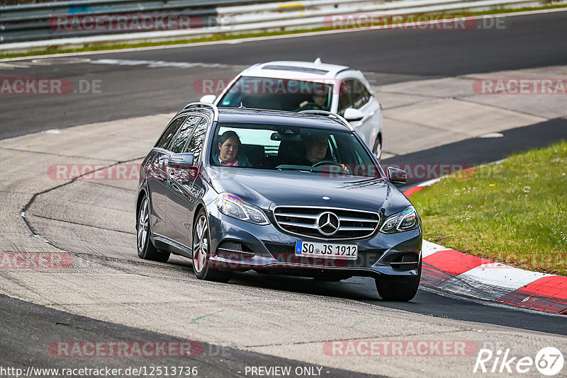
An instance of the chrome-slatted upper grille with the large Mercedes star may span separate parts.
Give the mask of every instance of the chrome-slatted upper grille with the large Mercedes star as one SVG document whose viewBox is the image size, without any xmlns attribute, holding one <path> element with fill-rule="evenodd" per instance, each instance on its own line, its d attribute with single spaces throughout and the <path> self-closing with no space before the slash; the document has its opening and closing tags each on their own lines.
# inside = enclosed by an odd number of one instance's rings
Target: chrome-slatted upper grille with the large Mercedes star
<svg viewBox="0 0 567 378">
<path fill-rule="evenodd" d="M 330 212 L 339 219 L 339 229 L 335 234 L 329 235 L 332 228 L 318 228 L 318 218 L 321 214 Z M 346 210 L 335 207 L 276 207 L 274 210 L 276 223 L 284 231 L 291 234 L 310 236 L 318 239 L 361 239 L 374 234 L 380 216 L 376 212 L 361 210 Z M 326 216 L 323 216 L 325 220 Z M 321 223 L 324 223 L 323 222 Z"/>
</svg>

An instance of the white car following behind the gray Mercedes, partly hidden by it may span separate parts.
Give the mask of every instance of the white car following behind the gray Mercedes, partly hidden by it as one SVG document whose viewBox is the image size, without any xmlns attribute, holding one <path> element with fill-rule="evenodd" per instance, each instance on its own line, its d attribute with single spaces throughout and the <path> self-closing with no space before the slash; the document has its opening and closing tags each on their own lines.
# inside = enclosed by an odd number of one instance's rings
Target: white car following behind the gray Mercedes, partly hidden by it
<svg viewBox="0 0 567 378">
<path fill-rule="evenodd" d="M 230 81 L 220 96 L 201 102 L 228 108 L 325 110 L 342 115 L 374 156 L 382 152 L 382 107 L 358 69 L 315 62 L 254 64 Z"/>
</svg>

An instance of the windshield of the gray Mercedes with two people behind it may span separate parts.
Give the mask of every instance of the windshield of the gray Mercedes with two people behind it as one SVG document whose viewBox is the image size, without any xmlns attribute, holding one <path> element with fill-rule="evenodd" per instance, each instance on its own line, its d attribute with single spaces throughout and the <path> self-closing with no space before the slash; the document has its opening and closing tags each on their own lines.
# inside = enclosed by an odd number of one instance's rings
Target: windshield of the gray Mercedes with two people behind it
<svg viewBox="0 0 567 378">
<path fill-rule="evenodd" d="M 348 130 L 220 123 L 214 135 L 213 166 L 381 177 L 364 146 Z"/>
</svg>

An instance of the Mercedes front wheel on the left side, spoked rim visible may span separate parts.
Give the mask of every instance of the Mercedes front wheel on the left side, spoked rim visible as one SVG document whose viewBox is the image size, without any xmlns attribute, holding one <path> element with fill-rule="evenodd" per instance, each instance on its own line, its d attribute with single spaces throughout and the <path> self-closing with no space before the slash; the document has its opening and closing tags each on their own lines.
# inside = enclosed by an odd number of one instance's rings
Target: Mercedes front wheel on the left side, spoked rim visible
<svg viewBox="0 0 567 378">
<path fill-rule="evenodd" d="M 220 270 L 210 268 L 210 233 L 208 231 L 208 219 L 205 210 L 201 209 L 196 217 L 193 225 L 193 242 L 191 249 L 193 251 L 193 273 L 199 280 L 228 282 L 230 280 L 230 272 L 221 272 Z"/>
</svg>

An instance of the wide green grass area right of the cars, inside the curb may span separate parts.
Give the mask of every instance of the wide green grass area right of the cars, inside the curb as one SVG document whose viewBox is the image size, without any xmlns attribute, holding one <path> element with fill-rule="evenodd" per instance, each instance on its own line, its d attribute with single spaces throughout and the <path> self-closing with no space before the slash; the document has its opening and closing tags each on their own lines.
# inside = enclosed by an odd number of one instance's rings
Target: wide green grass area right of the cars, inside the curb
<svg viewBox="0 0 567 378">
<path fill-rule="evenodd" d="M 411 200 L 427 240 L 567 276 L 567 142 L 457 173 Z"/>
</svg>

